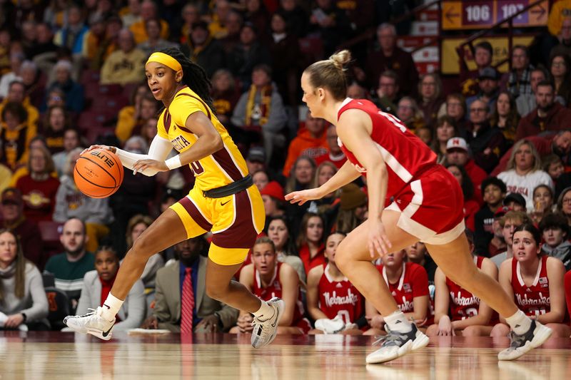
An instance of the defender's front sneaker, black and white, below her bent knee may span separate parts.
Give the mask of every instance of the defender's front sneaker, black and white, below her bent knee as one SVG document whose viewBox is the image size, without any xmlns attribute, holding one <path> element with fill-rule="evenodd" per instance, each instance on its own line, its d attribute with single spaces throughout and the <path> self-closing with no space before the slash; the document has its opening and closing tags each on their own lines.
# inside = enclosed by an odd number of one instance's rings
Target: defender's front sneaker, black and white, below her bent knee
<svg viewBox="0 0 571 380">
<path fill-rule="evenodd" d="M 428 337 L 415 324 L 411 327 L 410 332 L 393 332 L 385 324 L 387 334 L 373 343 L 380 343 L 380 349 L 367 355 L 367 364 L 385 363 L 427 346 Z"/>
</svg>

